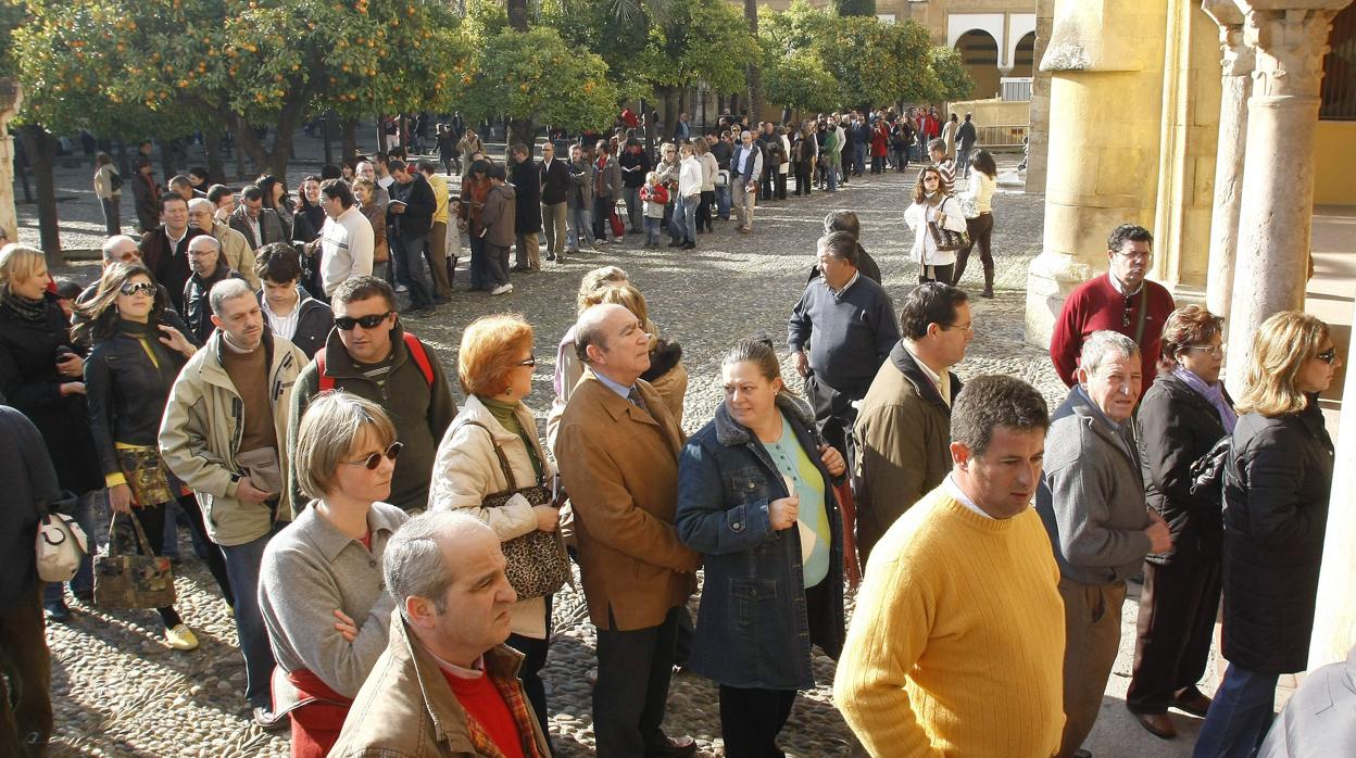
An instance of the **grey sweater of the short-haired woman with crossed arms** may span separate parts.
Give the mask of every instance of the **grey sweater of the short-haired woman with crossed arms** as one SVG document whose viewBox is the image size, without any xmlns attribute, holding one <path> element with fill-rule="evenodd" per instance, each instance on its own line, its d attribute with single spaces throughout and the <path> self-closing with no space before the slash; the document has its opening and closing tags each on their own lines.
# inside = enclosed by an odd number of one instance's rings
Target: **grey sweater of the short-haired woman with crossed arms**
<svg viewBox="0 0 1356 758">
<path fill-rule="evenodd" d="M 373 503 L 372 551 L 306 507 L 263 552 L 259 612 L 283 671 L 306 669 L 330 689 L 354 697 L 386 650 L 395 601 L 385 590 L 381 556 L 405 511 Z M 335 631 L 335 609 L 358 624 L 358 639 Z"/>
</svg>

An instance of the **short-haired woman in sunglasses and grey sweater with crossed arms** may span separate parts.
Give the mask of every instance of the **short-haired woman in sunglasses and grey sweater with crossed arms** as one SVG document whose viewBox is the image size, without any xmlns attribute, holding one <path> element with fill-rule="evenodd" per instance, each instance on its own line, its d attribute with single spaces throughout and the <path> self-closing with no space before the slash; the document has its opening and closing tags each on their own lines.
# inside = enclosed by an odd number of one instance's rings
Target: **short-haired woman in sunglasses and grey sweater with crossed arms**
<svg viewBox="0 0 1356 758">
<path fill-rule="evenodd" d="M 273 712 L 292 715 L 293 758 L 330 751 L 386 648 L 395 601 L 381 557 L 408 519 L 382 502 L 399 454 L 391 419 L 357 395 L 320 393 L 301 418 L 293 465 L 311 502 L 268 541 L 259 570 L 259 610 L 285 674 Z"/>
</svg>

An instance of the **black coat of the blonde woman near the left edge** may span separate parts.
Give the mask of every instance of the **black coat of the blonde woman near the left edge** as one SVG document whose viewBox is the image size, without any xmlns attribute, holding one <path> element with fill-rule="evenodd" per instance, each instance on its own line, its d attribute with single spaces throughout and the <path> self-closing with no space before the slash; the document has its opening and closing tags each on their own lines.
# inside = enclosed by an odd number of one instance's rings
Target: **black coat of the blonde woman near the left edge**
<svg viewBox="0 0 1356 758">
<path fill-rule="evenodd" d="M 61 396 L 62 384 L 80 380 L 57 373 L 58 348 L 85 353 L 71 340 L 54 296 L 46 297 L 41 321 L 24 320 L 0 305 L 0 396 L 42 433 L 61 487 L 83 495 L 100 490 L 103 476 L 89 442 L 84 396 Z"/>
</svg>

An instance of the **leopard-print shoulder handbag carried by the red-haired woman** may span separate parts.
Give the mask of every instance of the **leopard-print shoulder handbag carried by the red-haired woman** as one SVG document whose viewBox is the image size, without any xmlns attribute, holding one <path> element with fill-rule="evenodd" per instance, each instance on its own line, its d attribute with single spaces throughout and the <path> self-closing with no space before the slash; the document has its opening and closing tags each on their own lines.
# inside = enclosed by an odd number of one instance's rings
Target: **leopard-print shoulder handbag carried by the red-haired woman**
<svg viewBox="0 0 1356 758">
<path fill-rule="evenodd" d="M 465 423 L 479 426 L 485 430 L 485 434 L 490 434 L 490 443 L 495 446 L 495 456 L 499 458 L 499 468 L 504 472 L 504 480 L 509 481 L 509 488 L 503 492 L 485 495 L 480 507 L 498 508 L 507 503 L 514 495 L 522 495 L 527 503 L 533 506 L 545 506 L 546 503 L 551 503 L 551 490 L 546 487 L 538 484 L 533 487 L 523 487 L 521 490 L 518 488 L 518 481 L 514 479 L 513 469 L 509 466 L 509 458 L 504 456 L 503 449 L 499 447 L 499 443 L 495 442 L 490 427 L 477 422 Z M 513 540 L 502 544 L 500 549 L 503 549 L 504 559 L 509 561 L 504 574 L 509 575 L 509 583 L 513 584 L 513 589 L 518 593 L 518 599 L 521 601 L 551 595 L 563 587 L 571 578 L 570 557 L 565 555 L 565 544 L 560 537 L 559 527 L 555 532 L 533 529 L 522 537 L 514 537 Z"/>
</svg>

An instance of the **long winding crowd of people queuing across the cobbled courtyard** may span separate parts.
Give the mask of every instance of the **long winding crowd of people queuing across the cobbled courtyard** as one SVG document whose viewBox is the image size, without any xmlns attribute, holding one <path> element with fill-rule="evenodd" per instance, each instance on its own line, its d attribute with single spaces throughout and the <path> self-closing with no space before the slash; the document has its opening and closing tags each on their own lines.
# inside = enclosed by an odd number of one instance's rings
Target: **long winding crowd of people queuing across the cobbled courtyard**
<svg viewBox="0 0 1356 758">
<path fill-rule="evenodd" d="M 450 293 L 460 231 L 472 287 L 502 293 L 510 270 L 540 267 L 542 228 L 557 260 L 625 224 L 658 244 L 667 220 L 689 248 L 725 212 L 750 232 L 757 201 L 785 197 L 777 175 L 808 194 L 866 155 L 903 171 L 911 144 L 876 148 L 910 125 L 731 123 L 656 164 L 621 136 L 548 144 L 540 163 L 510 145 L 506 165 L 468 129 L 457 198 L 437 164 L 378 156 L 308 176 L 290 213 L 267 176 L 233 193 L 190 175 L 155 197 L 140 243 L 110 235 L 84 290 L 5 245 L 0 471 L 19 500 L 0 529 L 16 697 L 0 697 L 0 753 L 50 738 L 43 616 L 68 620 L 96 582 L 88 556 L 65 586 L 37 580 L 38 517 L 60 507 L 96 534 L 107 503 L 110 540 L 134 522 L 155 555 L 187 517 L 232 609 L 240 696 L 259 727 L 292 730 L 296 757 L 549 755 L 541 670 L 572 564 L 597 629 L 602 757 L 696 754 L 663 728 L 675 667 L 719 683 L 727 755 L 781 755 L 816 647 L 838 659 L 834 702 L 872 755 L 1086 754 L 1140 571 L 1125 701 L 1139 723 L 1168 739 L 1169 708 L 1203 716 L 1201 758 L 1304 754 L 1322 730 L 1267 727 L 1277 677 L 1307 663 L 1333 475 L 1317 399 L 1341 365 L 1329 328 L 1283 312 L 1238 336 L 1252 351 L 1234 400 L 1222 320 L 1146 278 L 1153 236 L 1127 224 L 1056 321 L 1070 389 L 1054 414 L 1013 377 L 963 384 L 976 323 L 956 285 L 978 243 L 993 297 L 995 180 L 978 151 L 953 193 L 968 118 L 926 144 L 904 209 L 918 285 L 898 309 L 857 216 L 830 213 L 786 323 L 803 391 L 772 338 L 742 339 L 690 437 L 682 347 L 621 268 L 580 282 L 545 430 L 533 324 L 498 313 L 462 331 L 458 407 L 405 323 Z M 625 221 L 607 213 L 618 198 Z M 1220 598 L 1230 667 L 1212 700 L 1199 683 Z M 167 645 L 198 645 L 193 618 L 156 612 Z"/>
</svg>

